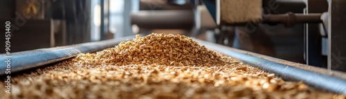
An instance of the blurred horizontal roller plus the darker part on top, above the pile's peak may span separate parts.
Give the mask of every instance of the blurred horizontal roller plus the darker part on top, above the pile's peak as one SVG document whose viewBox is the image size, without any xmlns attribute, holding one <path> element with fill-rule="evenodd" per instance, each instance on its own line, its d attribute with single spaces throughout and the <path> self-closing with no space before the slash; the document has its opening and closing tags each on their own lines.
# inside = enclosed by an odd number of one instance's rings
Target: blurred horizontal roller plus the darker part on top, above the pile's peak
<svg viewBox="0 0 346 99">
<path fill-rule="evenodd" d="M 139 11 L 131 13 L 131 24 L 141 30 L 183 29 L 194 27 L 194 11 L 189 1 L 139 1 Z"/>
</svg>

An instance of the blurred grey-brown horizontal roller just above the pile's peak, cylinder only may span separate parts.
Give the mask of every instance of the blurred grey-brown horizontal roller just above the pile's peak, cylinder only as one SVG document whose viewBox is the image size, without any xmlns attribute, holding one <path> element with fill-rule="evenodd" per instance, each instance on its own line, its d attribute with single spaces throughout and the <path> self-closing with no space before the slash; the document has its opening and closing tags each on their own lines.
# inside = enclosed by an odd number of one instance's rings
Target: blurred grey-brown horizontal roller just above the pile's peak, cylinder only
<svg viewBox="0 0 346 99">
<path fill-rule="evenodd" d="M 131 24 L 146 29 L 191 29 L 192 10 L 141 10 L 131 14 Z"/>
</svg>

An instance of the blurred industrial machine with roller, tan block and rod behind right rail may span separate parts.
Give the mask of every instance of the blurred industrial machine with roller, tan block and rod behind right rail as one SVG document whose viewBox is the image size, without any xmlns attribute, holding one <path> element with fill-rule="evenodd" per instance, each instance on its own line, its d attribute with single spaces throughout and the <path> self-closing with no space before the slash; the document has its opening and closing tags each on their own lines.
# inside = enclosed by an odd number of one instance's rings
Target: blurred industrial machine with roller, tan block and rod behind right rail
<svg viewBox="0 0 346 99">
<path fill-rule="evenodd" d="M 345 35 L 339 30 L 345 26 L 342 3 L 345 1 L 141 0 L 131 24 L 141 30 L 190 30 L 192 37 L 209 30 L 215 37 L 211 41 L 218 44 L 346 71 Z"/>
</svg>

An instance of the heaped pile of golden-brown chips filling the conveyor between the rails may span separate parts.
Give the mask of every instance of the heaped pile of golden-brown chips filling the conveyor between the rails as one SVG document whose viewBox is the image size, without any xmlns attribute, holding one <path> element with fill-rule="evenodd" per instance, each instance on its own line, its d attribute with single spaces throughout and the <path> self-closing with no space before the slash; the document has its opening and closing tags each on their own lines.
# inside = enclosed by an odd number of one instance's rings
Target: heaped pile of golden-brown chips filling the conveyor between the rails
<svg viewBox="0 0 346 99">
<path fill-rule="evenodd" d="M 164 34 L 137 36 L 11 80 L 12 92 L 1 90 L 0 98 L 345 98 Z"/>
</svg>

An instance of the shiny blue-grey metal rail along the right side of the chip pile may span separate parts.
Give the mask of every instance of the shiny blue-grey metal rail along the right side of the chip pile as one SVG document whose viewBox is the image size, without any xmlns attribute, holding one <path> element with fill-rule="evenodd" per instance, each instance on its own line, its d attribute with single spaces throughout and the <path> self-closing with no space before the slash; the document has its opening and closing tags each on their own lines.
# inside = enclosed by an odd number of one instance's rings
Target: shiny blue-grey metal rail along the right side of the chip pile
<svg viewBox="0 0 346 99">
<path fill-rule="evenodd" d="M 316 89 L 346 95 L 345 73 L 327 71 L 327 69 L 318 69 L 317 67 L 307 65 L 305 65 L 305 67 L 300 67 L 296 65 L 298 63 L 292 64 L 293 62 L 280 60 L 274 57 L 258 55 L 248 51 L 242 51 L 210 42 L 203 42 L 198 39 L 195 40 L 197 40 L 199 44 L 206 45 L 207 48 L 214 51 L 233 57 L 263 71 L 275 73 L 275 75 L 278 75 L 284 80 L 303 81 L 305 84 L 309 84 L 311 87 L 315 87 Z"/>
</svg>

